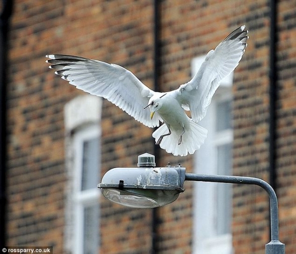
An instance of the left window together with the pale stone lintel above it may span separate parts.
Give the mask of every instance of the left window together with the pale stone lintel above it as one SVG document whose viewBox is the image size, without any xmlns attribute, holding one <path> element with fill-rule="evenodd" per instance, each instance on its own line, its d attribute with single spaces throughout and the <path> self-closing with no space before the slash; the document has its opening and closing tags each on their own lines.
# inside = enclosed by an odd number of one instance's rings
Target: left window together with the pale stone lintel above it
<svg viewBox="0 0 296 254">
<path fill-rule="evenodd" d="M 99 251 L 101 99 L 79 96 L 65 106 L 67 188 L 65 248 L 73 254 Z"/>
</svg>

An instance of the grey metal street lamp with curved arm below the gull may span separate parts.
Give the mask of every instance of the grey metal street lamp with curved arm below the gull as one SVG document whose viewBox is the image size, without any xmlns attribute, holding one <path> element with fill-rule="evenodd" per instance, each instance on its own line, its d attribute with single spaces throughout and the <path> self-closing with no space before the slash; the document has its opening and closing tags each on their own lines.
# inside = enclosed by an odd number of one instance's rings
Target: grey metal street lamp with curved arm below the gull
<svg viewBox="0 0 296 254">
<path fill-rule="evenodd" d="M 155 157 L 148 153 L 138 156 L 137 166 L 107 171 L 98 184 L 103 196 L 128 207 L 153 208 L 174 202 L 185 191 L 185 181 L 258 185 L 270 199 L 271 241 L 265 245 L 265 254 L 285 253 L 285 245 L 278 238 L 277 197 L 267 182 L 254 177 L 186 173 L 181 165 L 157 168 Z"/>
</svg>

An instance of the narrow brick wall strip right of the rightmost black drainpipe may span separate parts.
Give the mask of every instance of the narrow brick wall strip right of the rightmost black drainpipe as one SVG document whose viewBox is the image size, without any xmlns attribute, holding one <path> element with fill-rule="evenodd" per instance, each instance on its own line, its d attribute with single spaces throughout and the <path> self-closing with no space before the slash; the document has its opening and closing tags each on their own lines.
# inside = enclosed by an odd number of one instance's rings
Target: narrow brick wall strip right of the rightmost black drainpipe
<svg viewBox="0 0 296 254">
<path fill-rule="evenodd" d="M 296 251 L 296 5 L 293 1 L 278 3 L 278 123 L 277 176 L 280 237 L 286 253 Z"/>
</svg>

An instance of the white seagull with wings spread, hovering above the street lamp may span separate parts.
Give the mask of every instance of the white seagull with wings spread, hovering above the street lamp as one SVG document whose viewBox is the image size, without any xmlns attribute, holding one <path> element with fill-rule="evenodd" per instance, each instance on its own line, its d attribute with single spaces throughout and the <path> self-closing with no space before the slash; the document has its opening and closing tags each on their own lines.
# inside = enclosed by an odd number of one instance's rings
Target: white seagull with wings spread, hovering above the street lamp
<svg viewBox="0 0 296 254">
<path fill-rule="evenodd" d="M 167 153 L 194 154 L 207 130 L 198 124 L 205 116 L 220 81 L 230 74 L 247 47 L 248 30 L 235 29 L 215 50 L 210 50 L 194 77 L 176 90 L 158 92 L 145 86 L 129 70 L 99 60 L 70 55 L 47 55 L 55 74 L 90 94 L 103 97 L 144 125 Z M 150 110 L 149 110 L 149 109 Z M 185 111 L 190 110 L 191 117 Z"/>
</svg>

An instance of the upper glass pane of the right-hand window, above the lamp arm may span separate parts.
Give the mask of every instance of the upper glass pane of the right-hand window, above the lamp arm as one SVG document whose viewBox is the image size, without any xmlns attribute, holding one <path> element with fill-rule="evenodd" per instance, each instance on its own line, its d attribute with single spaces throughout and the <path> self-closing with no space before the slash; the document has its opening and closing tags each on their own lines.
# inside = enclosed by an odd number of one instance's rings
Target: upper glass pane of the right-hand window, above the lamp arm
<svg viewBox="0 0 296 254">
<path fill-rule="evenodd" d="M 232 105 L 231 100 L 217 102 L 216 106 L 216 131 L 232 128 Z"/>
</svg>

